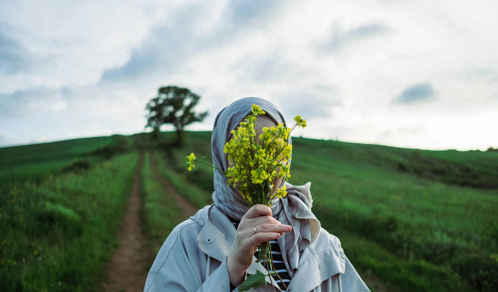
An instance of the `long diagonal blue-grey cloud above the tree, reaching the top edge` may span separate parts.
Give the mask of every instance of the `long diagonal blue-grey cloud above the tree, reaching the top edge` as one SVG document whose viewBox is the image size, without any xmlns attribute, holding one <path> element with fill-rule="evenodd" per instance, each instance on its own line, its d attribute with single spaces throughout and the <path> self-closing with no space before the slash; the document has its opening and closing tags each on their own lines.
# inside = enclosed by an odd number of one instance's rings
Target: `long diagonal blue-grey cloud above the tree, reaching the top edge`
<svg viewBox="0 0 498 292">
<path fill-rule="evenodd" d="M 173 25 L 155 28 L 149 37 L 131 54 L 121 67 L 104 71 L 101 82 L 134 79 L 161 72 L 164 76 L 176 72 L 190 57 L 211 49 L 223 47 L 247 29 L 264 25 L 264 18 L 273 11 L 277 1 L 233 0 L 228 3 L 212 31 L 196 34 L 196 24 L 202 23 L 208 9 L 206 3 L 196 2 L 177 8 L 171 17 Z M 254 21 L 257 19 L 257 23 Z"/>
</svg>

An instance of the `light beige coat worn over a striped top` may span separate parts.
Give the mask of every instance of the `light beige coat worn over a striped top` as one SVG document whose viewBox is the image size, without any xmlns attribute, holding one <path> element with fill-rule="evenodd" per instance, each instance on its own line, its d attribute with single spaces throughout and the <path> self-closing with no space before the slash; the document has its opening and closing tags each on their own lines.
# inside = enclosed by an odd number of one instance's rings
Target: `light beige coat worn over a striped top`
<svg viewBox="0 0 498 292">
<path fill-rule="evenodd" d="M 143 291 L 230 292 L 227 256 L 235 234 L 230 219 L 215 205 L 202 208 L 168 236 Z M 254 261 L 248 273 L 253 274 L 256 269 L 266 273 Z M 271 283 L 266 279 L 267 285 L 256 291 L 280 291 L 273 279 Z M 323 228 L 318 239 L 302 251 L 299 266 L 287 287 L 287 292 L 370 291 L 344 255 L 339 239 Z"/>
</svg>

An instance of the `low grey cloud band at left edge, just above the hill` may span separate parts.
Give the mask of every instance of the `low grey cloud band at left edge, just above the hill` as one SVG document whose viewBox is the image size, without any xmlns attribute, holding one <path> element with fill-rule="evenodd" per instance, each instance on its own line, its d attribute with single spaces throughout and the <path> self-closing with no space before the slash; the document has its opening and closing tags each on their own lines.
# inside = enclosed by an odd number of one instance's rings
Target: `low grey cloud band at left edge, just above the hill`
<svg viewBox="0 0 498 292">
<path fill-rule="evenodd" d="M 0 116 L 28 116 L 35 112 L 57 111 L 65 106 L 65 88 L 30 88 L 0 94 Z"/>
</svg>

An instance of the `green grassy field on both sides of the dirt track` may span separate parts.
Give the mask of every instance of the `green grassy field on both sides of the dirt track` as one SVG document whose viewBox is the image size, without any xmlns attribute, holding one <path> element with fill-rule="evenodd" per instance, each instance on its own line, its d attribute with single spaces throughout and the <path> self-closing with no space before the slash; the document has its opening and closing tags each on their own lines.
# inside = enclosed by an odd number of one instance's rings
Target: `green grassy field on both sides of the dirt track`
<svg viewBox="0 0 498 292">
<path fill-rule="evenodd" d="M 0 148 L 0 287 L 98 291 L 138 153 L 197 207 L 211 203 L 211 132 L 110 136 Z M 312 182 L 313 212 L 341 239 L 372 291 L 498 291 L 498 153 L 426 151 L 293 138 L 292 184 Z M 143 231 L 154 251 L 181 209 L 141 169 Z"/>
</svg>

